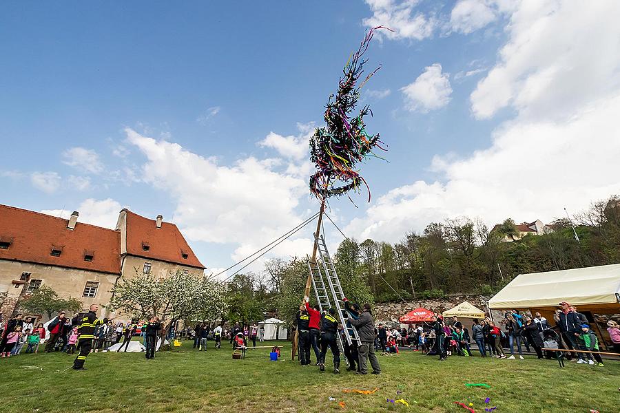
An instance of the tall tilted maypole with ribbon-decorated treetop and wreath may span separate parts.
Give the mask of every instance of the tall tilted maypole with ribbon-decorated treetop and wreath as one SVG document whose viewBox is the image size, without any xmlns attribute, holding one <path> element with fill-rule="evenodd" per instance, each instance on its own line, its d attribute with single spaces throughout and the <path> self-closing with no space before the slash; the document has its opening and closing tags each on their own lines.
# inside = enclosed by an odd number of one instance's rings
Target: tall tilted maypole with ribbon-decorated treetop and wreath
<svg viewBox="0 0 620 413">
<path fill-rule="evenodd" d="M 329 96 L 327 100 L 324 112 L 326 126 L 317 128 L 310 138 L 310 160 L 317 169 L 316 173 L 310 177 L 310 191 L 321 202 L 316 232 L 314 233 L 312 262 L 315 262 L 317 258 L 318 244 L 316 240 L 320 237 L 327 198 L 334 195 L 344 195 L 351 190 L 360 192 L 363 182 L 368 190 L 368 201 L 371 200 L 369 186 L 355 165 L 371 156 L 380 158 L 373 153 L 375 147 L 385 149 L 380 145 L 382 142 L 379 140 L 379 134 L 370 135 L 366 131 L 364 116 L 367 114 L 372 116 L 370 107 L 365 105 L 356 116 L 353 115 L 353 110 L 355 110 L 360 98 L 360 89 L 380 69 L 377 67 L 358 85 L 358 81 L 364 72 L 364 63 L 367 61 L 362 56 L 368 50 L 374 32 L 378 29 L 392 31 L 389 28 L 378 26 L 366 32 L 357 52 L 351 54 L 349 61 L 344 65 L 343 76 L 340 77 L 338 83 L 338 92 Z M 349 200 L 351 200 L 350 197 Z M 304 297 L 309 297 L 311 283 L 312 275 L 310 273 L 306 281 Z M 298 332 L 296 330 L 293 338 L 293 360 L 296 357 L 297 346 Z"/>
</svg>

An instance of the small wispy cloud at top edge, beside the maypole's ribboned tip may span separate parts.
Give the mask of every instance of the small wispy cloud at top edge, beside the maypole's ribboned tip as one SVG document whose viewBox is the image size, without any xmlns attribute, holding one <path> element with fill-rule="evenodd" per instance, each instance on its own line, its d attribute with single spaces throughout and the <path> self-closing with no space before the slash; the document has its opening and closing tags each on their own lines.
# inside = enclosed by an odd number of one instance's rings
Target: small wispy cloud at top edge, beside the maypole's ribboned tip
<svg viewBox="0 0 620 413">
<path fill-rule="evenodd" d="M 433 35 L 437 21 L 432 16 L 415 12 L 417 0 L 365 0 L 373 12 L 372 17 L 363 20 L 364 25 L 373 28 L 384 25 L 394 30 L 380 30 L 380 35 L 389 39 L 422 40 Z"/>
</svg>

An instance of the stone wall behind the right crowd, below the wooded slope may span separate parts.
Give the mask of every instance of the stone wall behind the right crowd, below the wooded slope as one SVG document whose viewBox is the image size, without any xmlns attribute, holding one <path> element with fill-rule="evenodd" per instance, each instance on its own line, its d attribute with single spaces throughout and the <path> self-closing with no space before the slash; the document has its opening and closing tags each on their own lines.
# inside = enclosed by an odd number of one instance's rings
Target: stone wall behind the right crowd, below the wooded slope
<svg viewBox="0 0 620 413">
<path fill-rule="evenodd" d="M 417 299 L 413 301 L 399 301 L 391 303 L 376 303 L 374 309 L 375 322 L 383 324 L 399 324 L 399 317 L 409 313 L 415 308 L 426 308 L 426 310 L 442 313 L 449 310 L 463 301 L 469 301 L 471 304 L 486 312 L 486 301 L 490 297 L 482 295 L 453 295 L 446 298 Z M 498 313 L 499 315 L 499 313 Z M 495 316 L 495 313 L 494 313 Z"/>
</svg>

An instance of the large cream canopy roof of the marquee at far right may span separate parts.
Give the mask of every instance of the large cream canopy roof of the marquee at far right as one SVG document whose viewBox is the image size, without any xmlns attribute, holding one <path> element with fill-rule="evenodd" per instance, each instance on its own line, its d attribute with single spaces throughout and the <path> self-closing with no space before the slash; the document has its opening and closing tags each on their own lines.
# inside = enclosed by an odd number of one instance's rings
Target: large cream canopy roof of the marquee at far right
<svg viewBox="0 0 620 413">
<path fill-rule="evenodd" d="M 517 275 L 488 301 L 489 308 L 618 305 L 620 264 Z"/>
</svg>

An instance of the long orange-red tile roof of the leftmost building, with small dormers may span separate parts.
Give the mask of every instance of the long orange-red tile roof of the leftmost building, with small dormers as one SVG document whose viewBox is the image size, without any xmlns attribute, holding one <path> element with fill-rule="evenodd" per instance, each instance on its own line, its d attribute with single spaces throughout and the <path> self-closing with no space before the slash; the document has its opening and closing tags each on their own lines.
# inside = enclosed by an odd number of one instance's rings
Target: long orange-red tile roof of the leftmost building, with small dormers
<svg viewBox="0 0 620 413">
<path fill-rule="evenodd" d="M 7 249 L 0 248 L 0 260 L 121 273 L 120 233 L 79 219 L 74 230 L 67 224 L 63 218 L 0 204 L 0 238 L 12 240 Z M 50 255 L 52 246 L 61 249 L 59 257 Z M 84 260 L 86 251 L 94 255 L 91 262 Z"/>
</svg>

